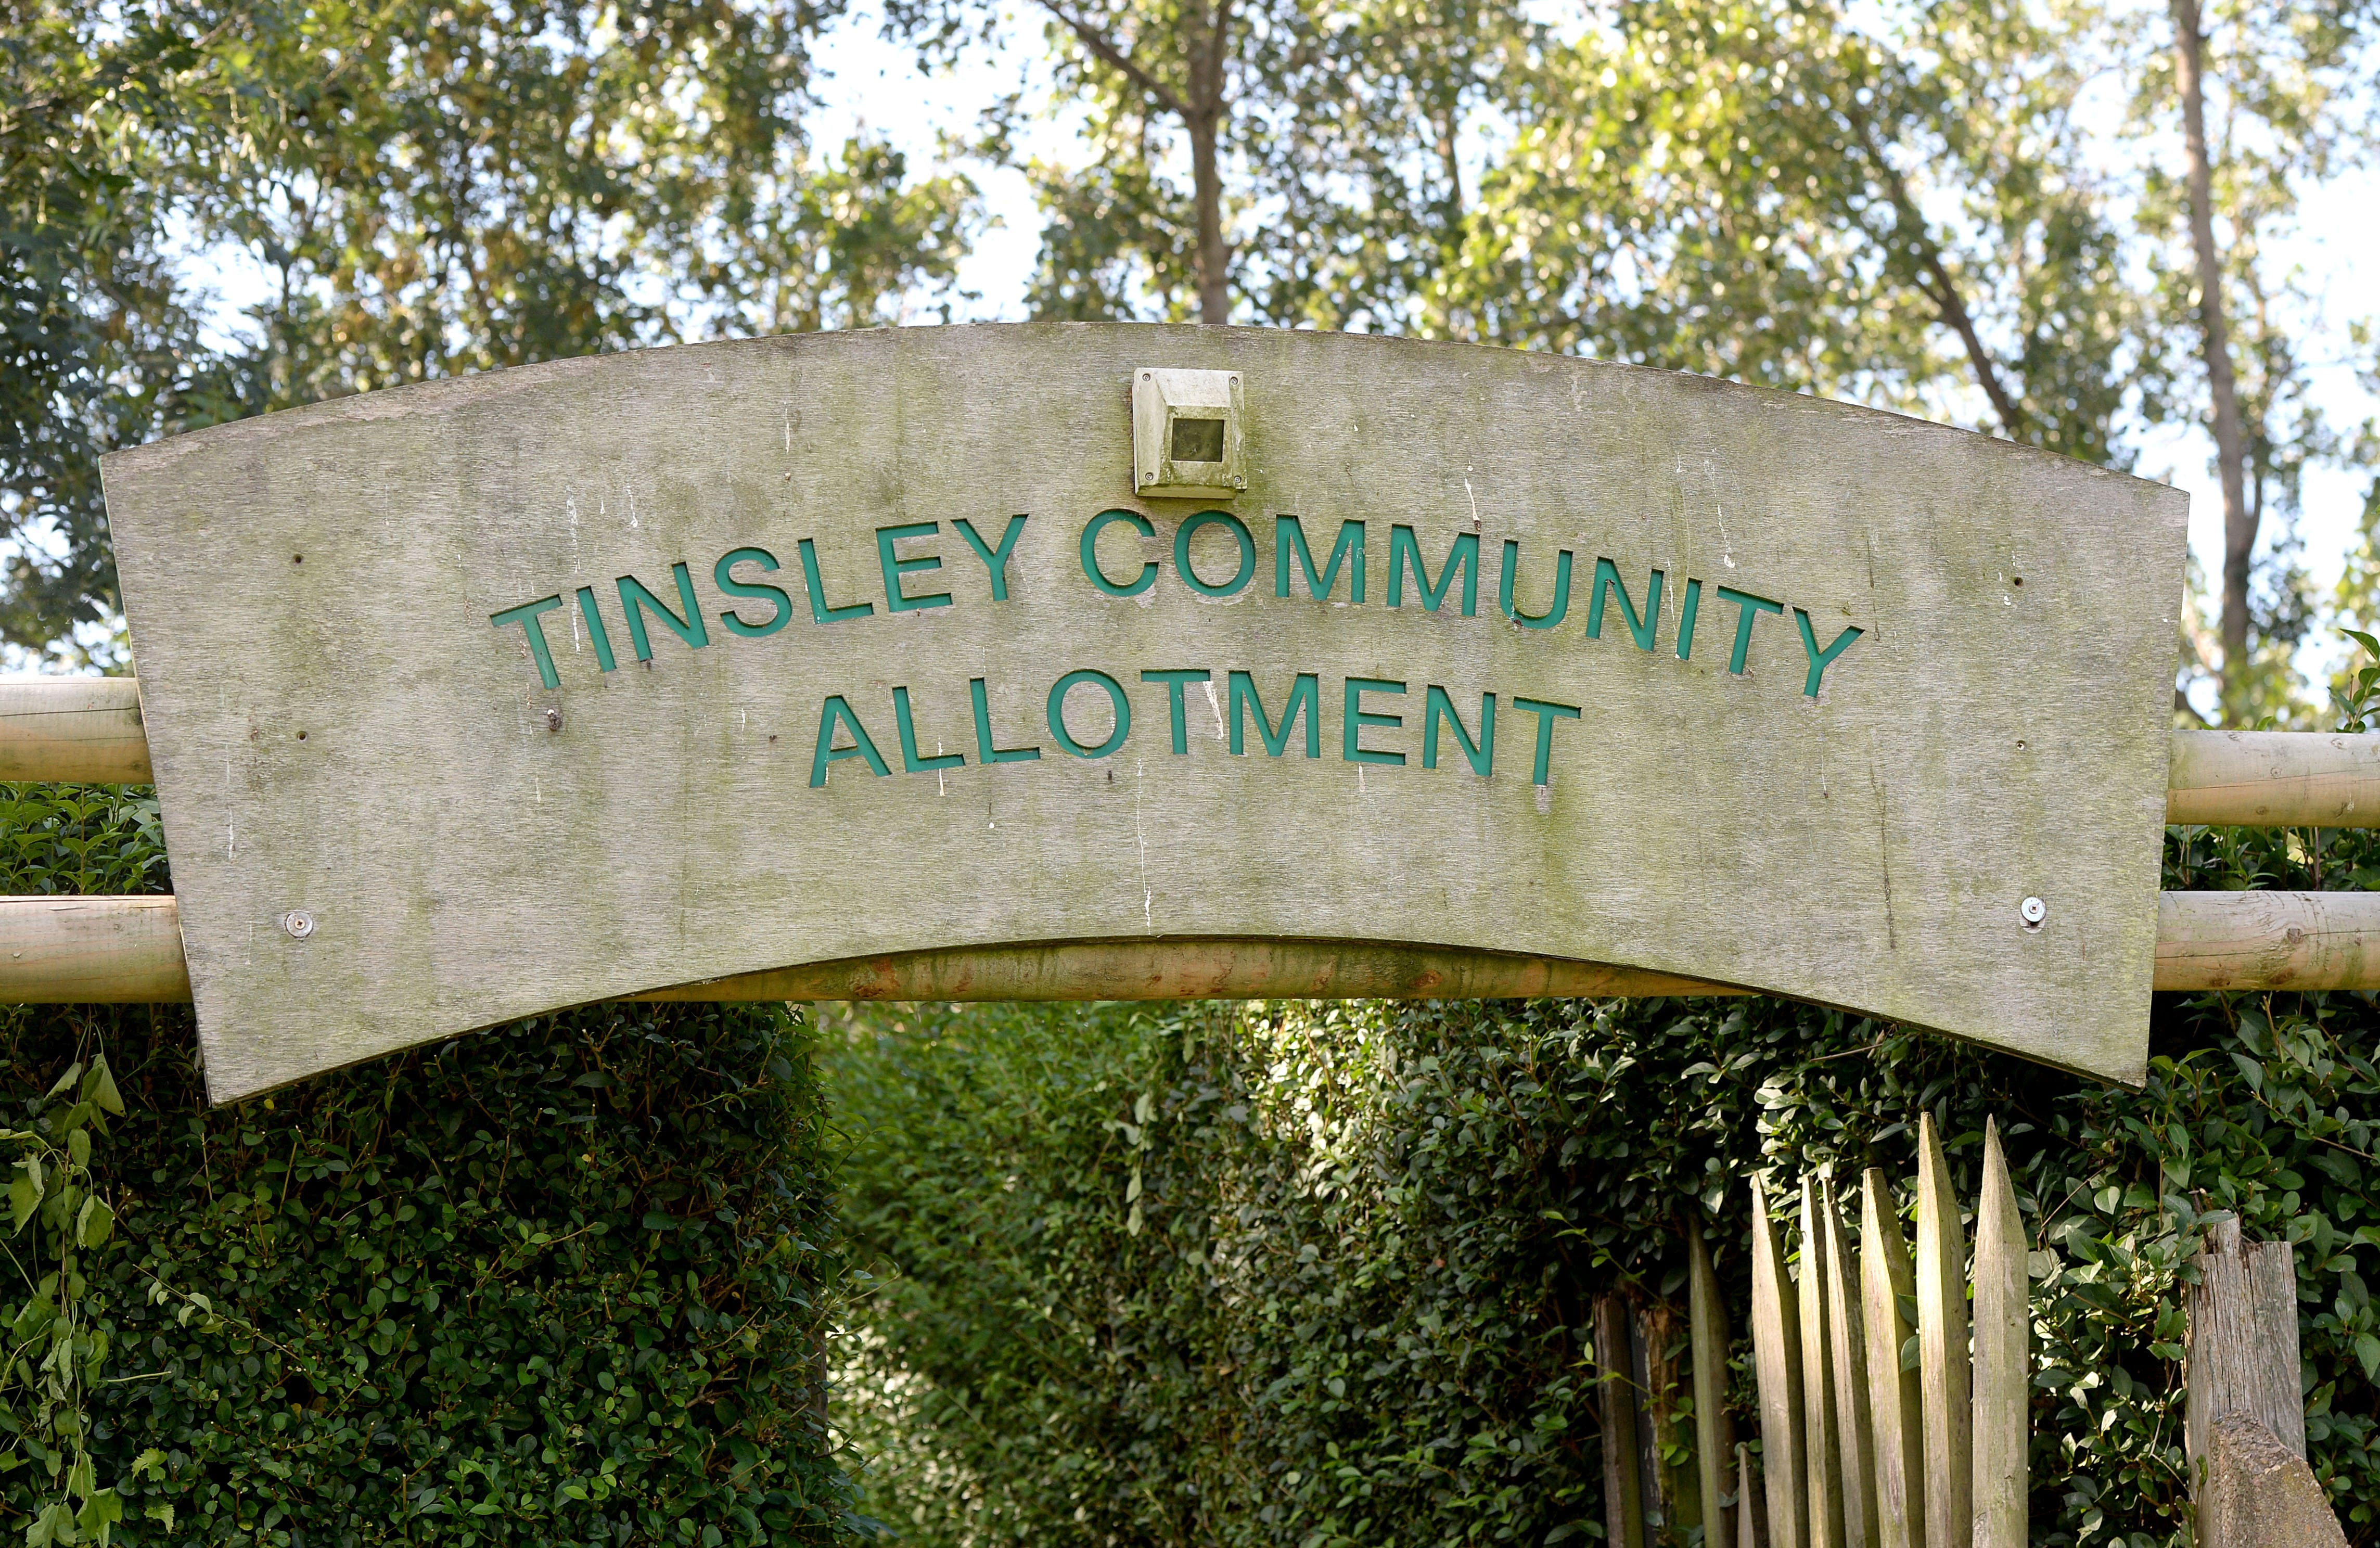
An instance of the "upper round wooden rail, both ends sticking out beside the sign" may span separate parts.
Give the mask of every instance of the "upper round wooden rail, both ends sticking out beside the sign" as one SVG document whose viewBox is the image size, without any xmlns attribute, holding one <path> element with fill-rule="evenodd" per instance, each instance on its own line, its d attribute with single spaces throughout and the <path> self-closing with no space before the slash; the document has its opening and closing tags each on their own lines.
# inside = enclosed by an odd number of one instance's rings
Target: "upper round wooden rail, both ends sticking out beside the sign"
<svg viewBox="0 0 2380 1548">
<path fill-rule="evenodd" d="M 140 684 L 0 676 L 0 779 L 148 784 Z M 2166 822 L 2380 826 L 2380 734 L 2175 731 Z"/>
</svg>

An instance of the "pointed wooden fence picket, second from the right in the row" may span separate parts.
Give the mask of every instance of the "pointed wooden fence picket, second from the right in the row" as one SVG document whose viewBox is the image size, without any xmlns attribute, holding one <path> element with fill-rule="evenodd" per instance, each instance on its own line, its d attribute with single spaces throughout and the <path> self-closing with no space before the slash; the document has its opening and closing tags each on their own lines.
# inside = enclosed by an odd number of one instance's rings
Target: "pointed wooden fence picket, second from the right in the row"
<svg viewBox="0 0 2380 1548">
<path fill-rule="evenodd" d="M 1925 1543 L 1968 1548 L 1975 1412 L 1968 1398 L 1966 1231 L 1933 1115 L 1918 1117 L 1918 1379 L 1925 1398 Z"/>
</svg>

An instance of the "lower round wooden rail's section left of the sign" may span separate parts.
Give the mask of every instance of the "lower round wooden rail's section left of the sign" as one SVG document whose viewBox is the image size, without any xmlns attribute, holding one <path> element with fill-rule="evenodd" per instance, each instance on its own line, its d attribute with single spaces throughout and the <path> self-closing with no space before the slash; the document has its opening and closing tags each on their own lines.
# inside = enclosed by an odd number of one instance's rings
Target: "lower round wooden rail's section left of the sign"
<svg viewBox="0 0 2380 1548">
<path fill-rule="evenodd" d="M 171 898 L 0 898 L 0 1005 L 188 998 Z"/>
</svg>

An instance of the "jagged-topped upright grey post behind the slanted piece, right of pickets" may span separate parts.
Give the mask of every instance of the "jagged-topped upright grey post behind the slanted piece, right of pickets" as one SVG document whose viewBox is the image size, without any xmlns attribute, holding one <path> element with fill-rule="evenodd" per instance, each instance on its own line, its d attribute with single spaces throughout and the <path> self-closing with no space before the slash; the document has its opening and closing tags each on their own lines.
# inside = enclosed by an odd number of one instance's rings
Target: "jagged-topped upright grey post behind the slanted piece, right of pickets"
<svg viewBox="0 0 2380 1548">
<path fill-rule="evenodd" d="M 2209 1229 L 2187 1291 L 2190 1343 L 2182 1450 L 2192 1477 L 2225 1415 L 2263 1424 L 2306 1455 L 2306 1398 L 2297 1350 L 2297 1257 L 2287 1241 L 2242 1241 L 2240 1219 Z"/>
</svg>

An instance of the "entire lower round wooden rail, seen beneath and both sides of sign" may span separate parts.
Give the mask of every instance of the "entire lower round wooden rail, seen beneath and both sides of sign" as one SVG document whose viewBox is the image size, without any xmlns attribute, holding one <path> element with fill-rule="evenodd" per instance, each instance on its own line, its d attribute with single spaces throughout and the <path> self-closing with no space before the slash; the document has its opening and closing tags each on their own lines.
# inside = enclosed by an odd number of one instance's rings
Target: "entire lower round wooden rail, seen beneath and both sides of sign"
<svg viewBox="0 0 2380 1548">
<path fill-rule="evenodd" d="M 2380 988 L 2380 893 L 2166 893 L 2156 988 Z M 635 1000 L 1518 1000 L 1740 995 L 1635 967 L 1335 941 L 1069 941 L 888 953 Z M 0 1005 L 190 998 L 171 898 L 0 898 Z"/>
</svg>

